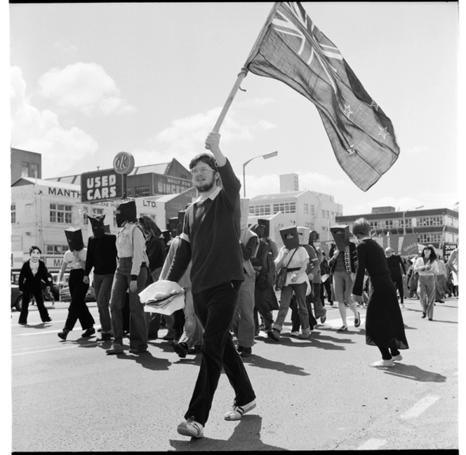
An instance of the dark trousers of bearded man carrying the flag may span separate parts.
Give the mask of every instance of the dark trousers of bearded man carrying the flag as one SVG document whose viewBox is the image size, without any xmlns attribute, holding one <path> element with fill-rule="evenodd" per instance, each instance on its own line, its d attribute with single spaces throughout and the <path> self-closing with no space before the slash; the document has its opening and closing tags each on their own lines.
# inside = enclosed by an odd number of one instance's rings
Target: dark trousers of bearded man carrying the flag
<svg viewBox="0 0 466 455">
<path fill-rule="evenodd" d="M 205 425 L 211 410 L 222 367 L 234 389 L 234 405 L 244 406 L 255 400 L 243 360 L 234 346 L 229 329 L 237 306 L 241 281 L 230 281 L 192 294 L 194 311 L 204 327 L 201 368 L 185 419 Z"/>
</svg>

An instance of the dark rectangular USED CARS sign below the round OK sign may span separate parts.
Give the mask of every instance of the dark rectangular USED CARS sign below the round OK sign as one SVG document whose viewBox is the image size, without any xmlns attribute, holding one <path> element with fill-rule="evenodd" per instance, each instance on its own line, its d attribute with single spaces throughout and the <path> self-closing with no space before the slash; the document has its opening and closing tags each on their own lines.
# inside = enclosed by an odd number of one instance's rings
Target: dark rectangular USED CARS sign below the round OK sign
<svg viewBox="0 0 466 455">
<path fill-rule="evenodd" d="M 114 169 L 81 174 L 81 202 L 101 202 L 123 198 L 124 175 Z"/>
</svg>

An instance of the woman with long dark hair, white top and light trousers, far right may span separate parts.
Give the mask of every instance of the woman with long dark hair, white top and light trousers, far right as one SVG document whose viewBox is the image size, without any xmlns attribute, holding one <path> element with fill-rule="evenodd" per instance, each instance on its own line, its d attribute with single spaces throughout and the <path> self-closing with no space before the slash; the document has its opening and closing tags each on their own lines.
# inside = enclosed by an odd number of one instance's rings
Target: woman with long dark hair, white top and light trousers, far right
<svg viewBox="0 0 466 455">
<path fill-rule="evenodd" d="M 420 304 L 422 318 L 434 320 L 435 276 L 439 273 L 437 254 L 434 248 L 425 247 L 413 266 L 413 271 L 419 273 Z"/>
</svg>

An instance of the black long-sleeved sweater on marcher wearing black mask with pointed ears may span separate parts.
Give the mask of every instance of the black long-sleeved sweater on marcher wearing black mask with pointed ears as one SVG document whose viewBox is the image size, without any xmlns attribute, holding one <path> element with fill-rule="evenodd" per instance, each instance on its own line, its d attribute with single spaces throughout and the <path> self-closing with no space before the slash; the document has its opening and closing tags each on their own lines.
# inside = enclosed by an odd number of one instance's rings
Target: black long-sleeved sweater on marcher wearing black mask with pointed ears
<svg viewBox="0 0 466 455">
<path fill-rule="evenodd" d="M 116 270 L 116 236 L 105 233 L 102 238 L 89 237 L 84 275 L 88 276 L 94 268 L 98 275 L 109 275 Z"/>
</svg>

